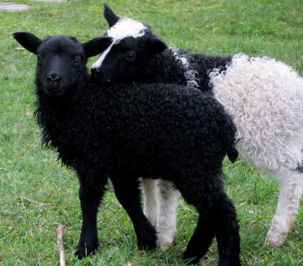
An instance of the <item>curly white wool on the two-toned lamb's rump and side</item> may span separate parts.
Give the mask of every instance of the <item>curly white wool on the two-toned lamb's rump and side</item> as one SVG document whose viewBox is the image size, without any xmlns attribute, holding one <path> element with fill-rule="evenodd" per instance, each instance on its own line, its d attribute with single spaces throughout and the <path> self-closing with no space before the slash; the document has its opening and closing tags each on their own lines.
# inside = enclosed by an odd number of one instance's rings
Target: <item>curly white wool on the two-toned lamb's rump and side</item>
<svg viewBox="0 0 303 266">
<path fill-rule="evenodd" d="M 234 115 L 241 157 L 260 169 L 303 161 L 303 79 L 275 59 L 234 56 L 210 74 L 215 97 Z"/>
</svg>

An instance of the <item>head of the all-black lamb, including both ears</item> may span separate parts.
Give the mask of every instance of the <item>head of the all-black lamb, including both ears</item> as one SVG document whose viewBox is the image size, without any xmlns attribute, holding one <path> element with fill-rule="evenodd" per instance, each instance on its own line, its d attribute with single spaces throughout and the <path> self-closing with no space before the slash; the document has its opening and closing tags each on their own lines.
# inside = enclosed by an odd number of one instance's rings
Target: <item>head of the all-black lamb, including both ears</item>
<svg viewBox="0 0 303 266">
<path fill-rule="evenodd" d="M 81 43 L 65 35 L 41 40 L 29 32 L 16 32 L 13 37 L 37 55 L 36 85 L 49 97 L 62 97 L 74 88 L 87 74 L 88 58 L 104 51 L 111 43 L 108 37 Z"/>
</svg>

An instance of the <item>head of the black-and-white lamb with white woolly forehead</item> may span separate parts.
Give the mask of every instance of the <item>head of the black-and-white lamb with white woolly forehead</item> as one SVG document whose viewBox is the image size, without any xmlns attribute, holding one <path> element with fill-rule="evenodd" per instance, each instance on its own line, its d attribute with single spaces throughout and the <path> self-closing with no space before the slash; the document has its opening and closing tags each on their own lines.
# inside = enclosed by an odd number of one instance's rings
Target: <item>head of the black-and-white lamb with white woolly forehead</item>
<svg viewBox="0 0 303 266">
<path fill-rule="evenodd" d="M 140 76 L 144 76 L 142 80 L 145 81 L 148 68 L 144 66 L 155 54 L 162 53 L 167 48 L 166 44 L 141 22 L 119 19 L 106 4 L 104 17 L 110 29 L 103 36 L 112 37 L 113 42 L 91 68 L 95 82 L 140 81 Z"/>
</svg>

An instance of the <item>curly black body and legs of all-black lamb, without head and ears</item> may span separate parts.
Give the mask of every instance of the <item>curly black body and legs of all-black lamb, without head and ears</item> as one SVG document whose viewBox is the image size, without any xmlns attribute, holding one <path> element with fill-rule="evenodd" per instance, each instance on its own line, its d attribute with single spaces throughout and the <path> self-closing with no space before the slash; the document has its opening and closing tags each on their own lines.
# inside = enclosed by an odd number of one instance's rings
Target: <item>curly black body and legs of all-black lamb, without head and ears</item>
<svg viewBox="0 0 303 266">
<path fill-rule="evenodd" d="M 153 249 L 154 229 L 146 218 L 136 226 L 137 218 L 134 219 L 130 209 L 137 206 L 137 212 L 142 212 L 137 190 L 139 177 L 170 180 L 185 200 L 196 206 L 200 219 L 207 217 L 210 223 L 207 227 L 211 226 L 216 232 L 222 230 L 224 235 L 231 230 L 234 240 L 223 238 L 222 241 L 231 242 L 232 249 L 238 254 L 235 209 L 219 179 L 226 152 L 232 161 L 238 155 L 234 149 L 235 127 L 223 106 L 208 93 L 179 85 L 135 84 L 98 88 L 81 84 L 80 88 L 86 86 L 89 90 L 79 89 L 77 96 L 56 103 L 41 95 L 35 111 L 45 142 L 59 153 L 65 165 L 77 171 L 80 198 L 82 190 L 87 190 L 85 193 L 89 197 L 91 191 L 97 191 L 99 204 L 108 176 L 121 203 L 126 198 L 130 201 L 129 193 L 133 191 L 133 195 L 138 196 L 138 203 L 130 203 L 131 207 L 122 205 L 133 218 L 139 245 L 142 243 L 143 249 Z M 81 206 L 83 201 L 81 198 Z M 153 237 L 141 237 L 145 235 L 140 232 L 144 223 Z M 81 243 L 90 239 L 87 233 L 84 239 L 82 235 L 77 247 L 79 257 L 85 256 L 85 246 Z M 206 246 L 193 255 L 192 249 L 187 249 L 185 258 L 203 256 L 213 237 L 212 233 L 209 243 L 203 240 Z M 197 238 L 200 243 L 201 238 Z M 94 239 L 97 239 L 95 234 Z M 191 241 L 190 245 L 196 247 L 202 243 L 197 245 Z M 86 247 L 91 252 L 97 246 L 89 249 L 86 244 Z"/>
</svg>

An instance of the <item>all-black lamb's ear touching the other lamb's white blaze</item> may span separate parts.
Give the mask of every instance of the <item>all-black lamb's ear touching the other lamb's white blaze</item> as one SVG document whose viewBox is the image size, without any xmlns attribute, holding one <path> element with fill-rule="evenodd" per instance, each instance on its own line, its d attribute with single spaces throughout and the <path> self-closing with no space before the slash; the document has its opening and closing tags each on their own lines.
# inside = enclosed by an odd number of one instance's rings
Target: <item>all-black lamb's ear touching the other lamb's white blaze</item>
<svg viewBox="0 0 303 266">
<path fill-rule="evenodd" d="M 97 37 L 91 39 L 90 41 L 83 43 L 83 49 L 85 51 L 86 57 L 92 57 L 97 54 L 104 52 L 112 42 L 111 37 Z"/>
</svg>

